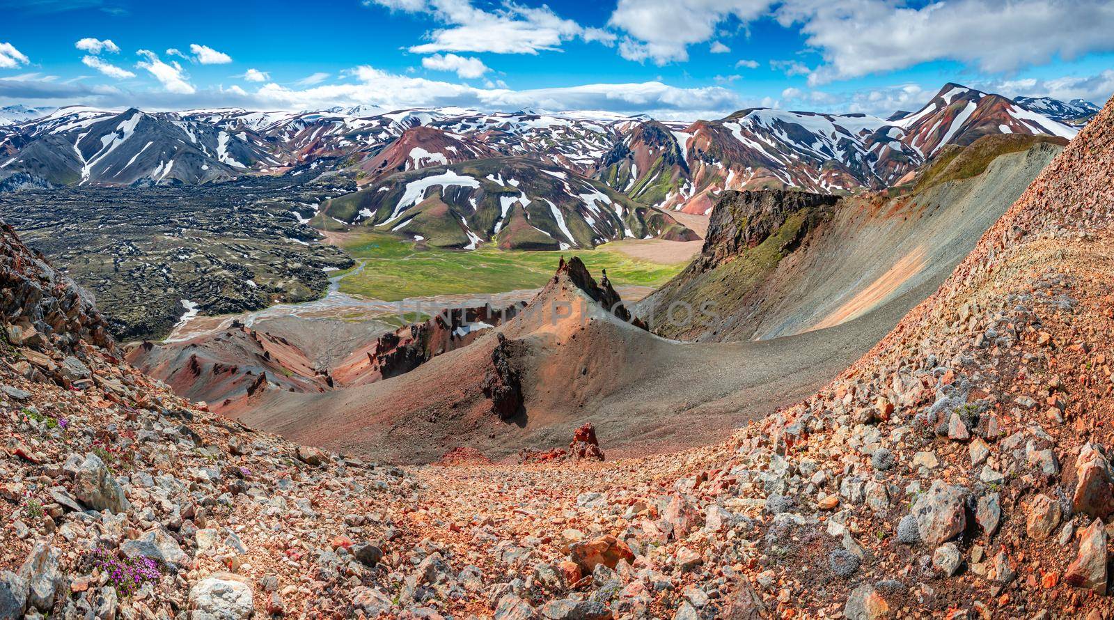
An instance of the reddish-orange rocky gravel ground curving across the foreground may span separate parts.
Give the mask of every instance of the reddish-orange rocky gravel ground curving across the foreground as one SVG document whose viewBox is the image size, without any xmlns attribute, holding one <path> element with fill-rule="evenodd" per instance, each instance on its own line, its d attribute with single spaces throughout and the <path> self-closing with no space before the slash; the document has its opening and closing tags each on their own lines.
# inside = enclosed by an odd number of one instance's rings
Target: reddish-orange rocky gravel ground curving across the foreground
<svg viewBox="0 0 1114 620">
<path fill-rule="evenodd" d="M 1114 104 L 829 387 L 613 462 L 252 432 L 6 239 L 0 617 L 1111 618 L 1111 169 Z"/>
</svg>

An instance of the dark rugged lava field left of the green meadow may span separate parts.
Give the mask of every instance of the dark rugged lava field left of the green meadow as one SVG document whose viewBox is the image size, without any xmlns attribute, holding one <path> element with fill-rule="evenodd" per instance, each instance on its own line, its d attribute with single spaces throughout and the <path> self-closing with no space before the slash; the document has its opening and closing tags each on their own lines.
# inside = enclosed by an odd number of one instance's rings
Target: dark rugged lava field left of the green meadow
<svg viewBox="0 0 1114 620">
<path fill-rule="evenodd" d="M 186 311 L 243 312 L 325 293 L 352 260 L 299 223 L 351 192 L 309 174 L 156 187 L 0 193 L 0 217 L 91 292 L 121 340 L 165 336 Z"/>
</svg>

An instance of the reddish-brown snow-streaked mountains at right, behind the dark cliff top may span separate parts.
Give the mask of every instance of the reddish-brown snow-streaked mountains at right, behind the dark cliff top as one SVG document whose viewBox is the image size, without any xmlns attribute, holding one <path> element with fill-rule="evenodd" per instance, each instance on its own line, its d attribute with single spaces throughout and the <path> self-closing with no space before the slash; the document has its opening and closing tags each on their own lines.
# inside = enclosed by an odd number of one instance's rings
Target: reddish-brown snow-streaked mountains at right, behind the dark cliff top
<svg viewBox="0 0 1114 620">
<path fill-rule="evenodd" d="M 886 187 L 945 146 L 966 146 L 987 134 L 1077 133 L 1005 97 L 956 84 L 916 113 L 889 119 L 752 108 L 667 132 L 655 125 L 628 133 L 600 161 L 596 176 L 635 200 L 690 213 L 707 213 L 723 190 Z M 647 133 L 656 136 L 651 143 L 641 137 Z M 684 166 L 675 157 L 670 163 L 677 151 Z M 665 163 L 670 168 L 659 169 Z"/>
</svg>

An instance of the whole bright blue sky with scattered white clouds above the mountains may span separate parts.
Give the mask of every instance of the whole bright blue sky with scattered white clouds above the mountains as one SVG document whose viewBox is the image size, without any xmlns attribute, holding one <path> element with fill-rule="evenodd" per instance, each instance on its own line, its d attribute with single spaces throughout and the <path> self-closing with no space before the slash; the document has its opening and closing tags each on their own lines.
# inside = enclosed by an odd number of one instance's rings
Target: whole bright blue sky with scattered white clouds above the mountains
<svg viewBox="0 0 1114 620">
<path fill-rule="evenodd" d="M 1114 94 L 1114 2 L 0 0 L 0 104 L 750 106 L 888 115 L 946 81 Z"/>
</svg>

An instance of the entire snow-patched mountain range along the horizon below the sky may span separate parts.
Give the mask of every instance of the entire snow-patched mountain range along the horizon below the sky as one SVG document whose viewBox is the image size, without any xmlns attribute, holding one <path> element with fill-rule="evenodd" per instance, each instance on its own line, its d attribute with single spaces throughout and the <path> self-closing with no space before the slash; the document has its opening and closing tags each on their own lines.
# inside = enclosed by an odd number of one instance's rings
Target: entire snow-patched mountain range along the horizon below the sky
<svg viewBox="0 0 1114 620">
<path fill-rule="evenodd" d="M 514 157 L 593 178 L 641 205 L 706 213 L 724 190 L 887 187 L 946 145 L 1000 133 L 1071 138 L 1097 109 L 1082 100 L 1010 100 L 957 84 L 945 85 L 919 110 L 889 118 L 769 108 L 676 123 L 461 108 L 145 113 L 71 106 L 45 113 L 10 106 L 0 109 L 0 182 L 195 184 L 340 171 L 381 187 L 394 174 L 443 174 L 444 166 Z M 580 236 L 587 242 L 593 235 Z"/>
</svg>

